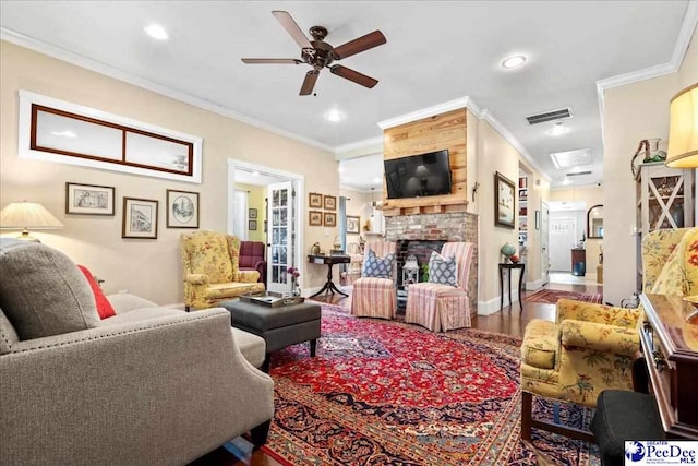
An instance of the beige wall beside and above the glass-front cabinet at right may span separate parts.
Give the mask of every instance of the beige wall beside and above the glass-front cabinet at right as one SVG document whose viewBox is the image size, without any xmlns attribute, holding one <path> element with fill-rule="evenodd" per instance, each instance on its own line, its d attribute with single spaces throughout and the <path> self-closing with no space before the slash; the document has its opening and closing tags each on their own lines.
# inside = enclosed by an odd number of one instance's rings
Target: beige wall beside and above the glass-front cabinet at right
<svg viewBox="0 0 698 466">
<path fill-rule="evenodd" d="M 619 304 L 636 291 L 638 237 L 635 179 L 630 159 L 639 141 L 661 138 L 666 150 L 669 103 L 681 89 L 698 82 L 698 35 L 694 35 L 676 73 L 614 87 L 604 94 L 604 218 L 603 300 Z"/>
</svg>

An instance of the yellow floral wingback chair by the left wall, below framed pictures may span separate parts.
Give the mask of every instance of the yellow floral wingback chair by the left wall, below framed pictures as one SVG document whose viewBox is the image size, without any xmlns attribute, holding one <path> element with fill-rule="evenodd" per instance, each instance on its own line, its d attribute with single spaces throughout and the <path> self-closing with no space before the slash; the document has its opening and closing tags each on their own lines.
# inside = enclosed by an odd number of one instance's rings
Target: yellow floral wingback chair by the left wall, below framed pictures
<svg viewBox="0 0 698 466">
<path fill-rule="evenodd" d="M 182 235 L 184 307 L 205 309 L 245 292 L 264 291 L 257 271 L 240 271 L 240 239 L 216 231 Z"/>
</svg>

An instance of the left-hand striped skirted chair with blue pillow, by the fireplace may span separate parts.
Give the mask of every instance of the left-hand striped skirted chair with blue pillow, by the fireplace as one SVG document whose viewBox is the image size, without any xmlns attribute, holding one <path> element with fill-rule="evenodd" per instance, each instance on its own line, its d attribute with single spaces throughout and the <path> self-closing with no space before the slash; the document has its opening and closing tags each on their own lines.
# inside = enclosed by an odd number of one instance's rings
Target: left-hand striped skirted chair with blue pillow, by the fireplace
<svg viewBox="0 0 698 466">
<path fill-rule="evenodd" d="M 395 319 L 397 311 L 397 243 L 365 244 L 361 278 L 353 283 L 351 313 L 359 318 Z"/>
</svg>

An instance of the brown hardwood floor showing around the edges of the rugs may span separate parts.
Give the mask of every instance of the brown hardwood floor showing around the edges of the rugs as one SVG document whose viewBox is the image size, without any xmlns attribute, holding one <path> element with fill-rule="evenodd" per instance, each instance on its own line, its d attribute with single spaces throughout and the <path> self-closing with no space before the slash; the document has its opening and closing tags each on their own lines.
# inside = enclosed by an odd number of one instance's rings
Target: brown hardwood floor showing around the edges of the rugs
<svg viewBox="0 0 698 466">
<path fill-rule="evenodd" d="M 578 292 L 590 292 L 597 294 L 602 292 L 603 288 L 600 285 L 585 283 L 585 284 L 547 284 L 543 288 L 546 289 L 558 289 L 566 291 L 578 291 Z M 531 295 L 533 291 L 527 291 L 524 295 L 524 299 L 526 299 L 527 295 Z M 351 301 L 349 298 L 345 298 L 341 295 L 328 295 L 323 297 L 317 297 L 314 300 L 318 302 L 325 302 L 330 304 L 337 304 L 342 307 L 349 307 Z M 472 320 L 472 327 L 484 330 L 489 332 L 504 333 L 507 335 L 514 336 L 524 336 L 524 331 L 526 330 L 526 324 L 530 322 L 532 319 L 546 319 L 554 320 L 555 319 L 555 304 L 545 304 L 540 302 L 524 302 L 524 310 L 519 311 L 519 303 L 515 302 L 510 308 L 505 306 L 504 309 L 500 312 L 496 312 L 492 315 L 477 315 Z M 241 441 L 241 439 L 236 439 L 236 443 Z M 244 441 L 242 441 L 244 442 Z M 220 447 L 215 450 L 214 452 L 198 458 L 196 462 L 192 463 L 195 466 L 281 466 L 276 459 L 272 458 L 267 454 L 255 451 L 252 454 L 249 452 L 251 449 L 249 445 L 240 449 L 241 454 L 236 456 L 233 453 L 230 453 L 228 450 Z"/>
</svg>

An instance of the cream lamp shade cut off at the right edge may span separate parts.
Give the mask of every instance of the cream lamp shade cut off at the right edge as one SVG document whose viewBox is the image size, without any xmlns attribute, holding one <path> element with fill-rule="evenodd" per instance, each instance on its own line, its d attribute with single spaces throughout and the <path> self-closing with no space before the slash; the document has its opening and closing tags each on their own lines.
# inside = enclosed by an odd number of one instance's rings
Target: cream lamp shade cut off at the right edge
<svg viewBox="0 0 698 466">
<path fill-rule="evenodd" d="M 672 98 L 666 166 L 698 167 L 698 83 Z"/>
</svg>

